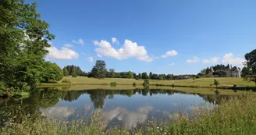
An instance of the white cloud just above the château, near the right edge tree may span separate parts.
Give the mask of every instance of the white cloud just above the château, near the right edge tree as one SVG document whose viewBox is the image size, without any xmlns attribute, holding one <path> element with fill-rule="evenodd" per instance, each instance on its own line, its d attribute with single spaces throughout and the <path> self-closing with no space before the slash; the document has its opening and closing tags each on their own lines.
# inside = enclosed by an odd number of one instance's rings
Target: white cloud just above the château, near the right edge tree
<svg viewBox="0 0 256 135">
<path fill-rule="evenodd" d="M 222 63 L 224 64 L 232 64 L 236 66 L 242 66 L 245 59 L 242 58 L 233 58 L 233 53 L 227 53 L 223 56 Z"/>
</svg>

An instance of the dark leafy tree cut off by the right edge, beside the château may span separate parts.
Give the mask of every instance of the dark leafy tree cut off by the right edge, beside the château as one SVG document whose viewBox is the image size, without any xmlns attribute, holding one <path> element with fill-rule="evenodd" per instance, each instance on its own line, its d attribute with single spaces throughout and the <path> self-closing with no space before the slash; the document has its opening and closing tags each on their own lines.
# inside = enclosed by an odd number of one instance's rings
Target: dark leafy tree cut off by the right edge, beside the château
<svg viewBox="0 0 256 135">
<path fill-rule="evenodd" d="M 246 69 L 243 69 L 242 73 L 244 76 L 244 80 L 253 81 L 256 87 L 256 49 L 244 55 L 246 62 L 244 66 Z"/>
</svg>

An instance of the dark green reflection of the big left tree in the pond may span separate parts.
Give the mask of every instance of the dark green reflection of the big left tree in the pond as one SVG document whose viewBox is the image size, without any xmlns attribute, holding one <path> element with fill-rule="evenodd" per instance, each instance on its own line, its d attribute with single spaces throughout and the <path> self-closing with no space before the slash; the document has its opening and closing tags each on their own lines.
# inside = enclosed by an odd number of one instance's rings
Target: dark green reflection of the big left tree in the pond
<svg viewBox="0 0 256 135">
<path fill-rule="evenodd" d="M 0 122 L 3 123 L 12 118 L 15 123 L 21 123 L 25 115 L 36 118 L 37 115 L 41 115 L 39 108 L 55 105 L 61 95 L 61 91 L 44 89 L 43 91 L 34 91 L 29 98 L 9 98 L 8 101 L 0 103 Z"/>
</svg>

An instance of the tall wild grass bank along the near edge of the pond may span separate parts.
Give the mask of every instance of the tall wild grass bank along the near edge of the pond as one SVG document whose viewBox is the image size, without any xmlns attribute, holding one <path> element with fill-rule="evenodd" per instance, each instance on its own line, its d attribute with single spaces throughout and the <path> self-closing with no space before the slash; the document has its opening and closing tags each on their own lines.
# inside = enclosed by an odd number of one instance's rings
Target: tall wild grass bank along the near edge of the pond
<svg viewBox="0 0 256 135">
<path fill-rule="evenodd" d="M 219 107 L 195 106 L 191 117 L 185 113 L 170 115 L 171 122 L 147 121 L 144 126 L 133 130 L 120 127 L 106 130 L 108 122 L 102 119 L 102 112 L 95 111 L 87 120 L 71 122 L 24 115 L 20 123 L 2 128 L 0 134 L 255 134 L 256 94 L 240 94 L 229 101 L 222 101 Z"/>
</svg>

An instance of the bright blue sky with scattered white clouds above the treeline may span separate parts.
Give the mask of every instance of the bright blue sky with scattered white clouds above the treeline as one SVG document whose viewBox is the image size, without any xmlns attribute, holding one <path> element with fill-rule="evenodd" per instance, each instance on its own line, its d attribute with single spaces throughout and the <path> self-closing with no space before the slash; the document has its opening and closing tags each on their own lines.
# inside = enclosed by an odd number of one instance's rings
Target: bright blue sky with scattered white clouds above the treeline
<svg viewBox="0 0 256 135">
<path fill-rule="evenodd" d="M 36 2 L 56 36 L 46 59 L 61 67 L 88 72 L 103 59 L 116 71 L 199 73 L 220 63 L 241 67 L 256 47 L 254 0 Z"/>
</svg>

